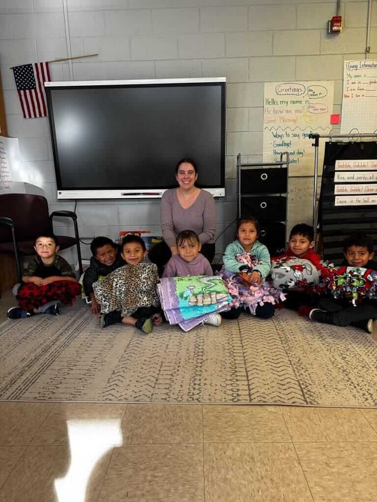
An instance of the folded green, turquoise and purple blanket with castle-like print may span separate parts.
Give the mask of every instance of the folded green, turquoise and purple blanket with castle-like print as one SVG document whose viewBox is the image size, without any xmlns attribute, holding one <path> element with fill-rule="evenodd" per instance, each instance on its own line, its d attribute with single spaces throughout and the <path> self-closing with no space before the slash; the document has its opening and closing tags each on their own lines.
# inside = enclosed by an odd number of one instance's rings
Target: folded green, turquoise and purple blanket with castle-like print
<svg viewBox="0 0 377 502">
<path fill-rule="evenodd" d="M 157 286 L 169 324 L 189 331 L 213 312 L 229 310 L 232 301 L 222 279 L 215 276 L 165 277 Z"/>
</svg>

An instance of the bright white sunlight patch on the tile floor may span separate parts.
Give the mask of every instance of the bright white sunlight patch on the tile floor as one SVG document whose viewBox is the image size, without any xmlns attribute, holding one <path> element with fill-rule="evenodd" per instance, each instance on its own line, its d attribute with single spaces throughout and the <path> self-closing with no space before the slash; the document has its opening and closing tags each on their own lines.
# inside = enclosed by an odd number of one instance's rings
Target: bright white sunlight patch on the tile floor
<svg viewBox="0 0 377 502">
<path fill-rule="evenodd" d="M 121 420 L 67 420 L 71 463 L 66 475 L 54 481 L 59 502 L 85 502 L 87 483 L 100 460 L 123 443 Z"/>
</svg>

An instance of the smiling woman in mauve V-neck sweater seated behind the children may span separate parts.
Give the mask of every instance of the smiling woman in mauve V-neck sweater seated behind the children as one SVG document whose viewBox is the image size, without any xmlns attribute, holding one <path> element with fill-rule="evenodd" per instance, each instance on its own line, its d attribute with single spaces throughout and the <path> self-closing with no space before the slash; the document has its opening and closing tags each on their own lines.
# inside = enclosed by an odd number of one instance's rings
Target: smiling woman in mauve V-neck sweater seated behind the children
<svg viewBox="0 0 377 502">
<path fill-rule="evenodd" d="M 195 186 L 198 169 L 191 159 L 181 159 L 175 168 L 178 188 L 166 190 L 161 199 L 161 229 L 164 240 L 149 252 L 159 272 L 176 255 L 175 239 L 183 230 L 193 230 L 202 244 L 201 253 L 212 263 L 215 256 L 216 207 L 206 190 Z"/>
</svg>

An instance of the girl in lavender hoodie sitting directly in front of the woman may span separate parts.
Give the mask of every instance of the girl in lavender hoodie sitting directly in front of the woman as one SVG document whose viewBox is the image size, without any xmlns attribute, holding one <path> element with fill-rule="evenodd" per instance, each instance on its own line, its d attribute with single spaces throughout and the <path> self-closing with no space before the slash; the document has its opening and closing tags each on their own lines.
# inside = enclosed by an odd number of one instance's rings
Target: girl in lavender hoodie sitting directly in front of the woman
<svg viewBox="0 0 377 502">
<path fill-rule="evenodd" d="M 176 246 L 177 254 L 167 262 L 162 277 L 213 276 L 210 262 L 200 253 L 202 244 L 193 230 L 178 233 Z M 220 326 L 221 315 L 214 312 L 204 322 Z"/>
</svg>

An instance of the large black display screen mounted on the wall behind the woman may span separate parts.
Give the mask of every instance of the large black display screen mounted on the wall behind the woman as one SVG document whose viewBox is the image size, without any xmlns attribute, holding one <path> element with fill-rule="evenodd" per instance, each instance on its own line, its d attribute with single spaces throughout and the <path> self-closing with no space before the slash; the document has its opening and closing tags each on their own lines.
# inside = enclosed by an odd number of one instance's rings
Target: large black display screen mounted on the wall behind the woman
<svg viewBox="0 0 377 502">
<path fill-rule="evenodd" d="M 198 185 L 224 187 L 225 82 L 47 87 L 57 188 L 176 186 L 177 161 Z"/>
</svg>

